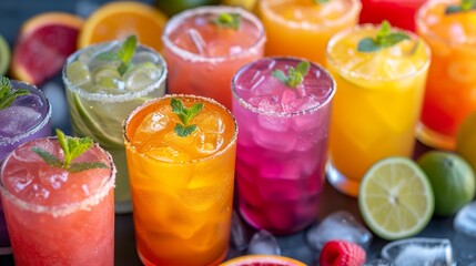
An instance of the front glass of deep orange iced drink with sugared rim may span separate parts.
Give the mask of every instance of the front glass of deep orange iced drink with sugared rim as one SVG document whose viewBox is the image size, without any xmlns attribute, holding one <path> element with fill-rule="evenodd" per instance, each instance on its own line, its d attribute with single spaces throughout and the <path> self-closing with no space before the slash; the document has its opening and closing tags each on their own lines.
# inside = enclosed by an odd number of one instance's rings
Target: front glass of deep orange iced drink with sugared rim
<svg viewBox="0 0 476 266">
<path fill-rule="evenodd" d="M 179 136 L 172 98 L 203 103 L 196 129 Z M 237 127 L 201 96 L 150 101 L 124 122 L 135 242 L 145 265 L 216 265 L 229 249 Z"/>
</svg>

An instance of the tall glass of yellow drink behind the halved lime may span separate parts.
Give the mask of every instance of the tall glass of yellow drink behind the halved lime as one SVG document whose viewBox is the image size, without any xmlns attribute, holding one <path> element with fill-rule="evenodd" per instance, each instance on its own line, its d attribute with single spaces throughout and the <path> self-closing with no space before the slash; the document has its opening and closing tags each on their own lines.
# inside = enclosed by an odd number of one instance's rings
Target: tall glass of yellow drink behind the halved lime
<svg viewBox="0 0 476 266">
<path fill-rule="evenodd" d="M 386 156 L 411 156 L 429 65 L 429 49 L 417 35 L 374 52 L 357 51 L 378 28 L 357 25 L 333 37 L 326 65 L 337 91 L 331 119 L 327 177 L 357 196 L 362 176 Z M 399 31 L 399 30 L 398 30 Z"/>
</svg>

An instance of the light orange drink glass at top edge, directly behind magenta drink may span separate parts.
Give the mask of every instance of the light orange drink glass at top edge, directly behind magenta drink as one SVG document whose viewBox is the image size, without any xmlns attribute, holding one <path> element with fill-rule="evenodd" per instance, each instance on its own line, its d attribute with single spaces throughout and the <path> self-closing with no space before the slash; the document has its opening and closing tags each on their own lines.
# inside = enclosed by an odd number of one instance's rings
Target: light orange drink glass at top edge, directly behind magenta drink
<svg viewBox="0 0 476 266">
<path fill-rule="evenodd" d="M 262 0 L 266 55 L 294 55 L 324 64 L 325 44 L 336 32 L 357 23 L 359 0 Z"/>
</svg>

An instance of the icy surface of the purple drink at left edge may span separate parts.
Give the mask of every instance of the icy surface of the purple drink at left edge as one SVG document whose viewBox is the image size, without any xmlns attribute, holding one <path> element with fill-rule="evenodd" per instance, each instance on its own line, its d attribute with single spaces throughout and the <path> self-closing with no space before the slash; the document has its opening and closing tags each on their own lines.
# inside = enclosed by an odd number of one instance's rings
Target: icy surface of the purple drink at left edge
<svg viewBox="0 0 476 266">
<path fill-rule="evenodd" d="M 13 136 L 22 134 L 38 124 L 41 113 L 31 108 L 12 105 L 0 111 L 0 135 Z"/>
</svg>

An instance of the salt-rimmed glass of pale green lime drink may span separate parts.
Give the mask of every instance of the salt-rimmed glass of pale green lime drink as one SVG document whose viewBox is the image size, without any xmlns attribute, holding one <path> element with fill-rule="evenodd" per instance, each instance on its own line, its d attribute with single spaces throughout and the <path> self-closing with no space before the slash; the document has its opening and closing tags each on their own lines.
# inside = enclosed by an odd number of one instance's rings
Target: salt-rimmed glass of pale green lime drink
<svg viewBox="0 0 476 266">
<path fill-rule="evenodd" d="M 153 63 L 162 69 L 161 73 L 153 83 L 142 90 L 120 93 L 85 91 L 81 86 L 74 85 L 67 75 L 68 66 L 71 63 L 78 60 L 87 61 L 88 59 L 92 62 L 93 58 L 101 52 L 108 51 L 121 43 L 121 41 L 113 41 L 94 44 L 71 54 L 63 69 L 63 82 L 67 89 L 67 99 L 74 135 L 91 136 L 112 154 L 118 167 L 114 193 L 115 212 L 130 213 L 132 204 L 124 142 L 122 139 L 122 122 L 136 106 L 146 100 L 162 96 L 165 93 L 166 63 L 162 55 L 153 49 L 142 44 L 138 45 L 135 54 L 153 54 L 156 61 Z M 90 71 L 93 72 L 92 69 Z"/>
</svg>

